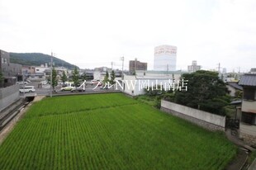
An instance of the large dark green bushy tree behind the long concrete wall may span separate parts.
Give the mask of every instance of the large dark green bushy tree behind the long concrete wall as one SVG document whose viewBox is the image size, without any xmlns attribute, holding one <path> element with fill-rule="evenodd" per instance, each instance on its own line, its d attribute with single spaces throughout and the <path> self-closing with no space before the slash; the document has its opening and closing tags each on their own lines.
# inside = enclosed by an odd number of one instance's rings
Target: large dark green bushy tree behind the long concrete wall
<svg viewBox="0 0 256 170">
<path fill-rule="evenodd" d="M 218 73 L 199 70 L 183 74 L 187 80 L 187 92 L 175 92 L 174 101 L 218 115 L 225 115 L 224 106 L 229 104 L 225 83 L 218 78 Z"/>
</svg>

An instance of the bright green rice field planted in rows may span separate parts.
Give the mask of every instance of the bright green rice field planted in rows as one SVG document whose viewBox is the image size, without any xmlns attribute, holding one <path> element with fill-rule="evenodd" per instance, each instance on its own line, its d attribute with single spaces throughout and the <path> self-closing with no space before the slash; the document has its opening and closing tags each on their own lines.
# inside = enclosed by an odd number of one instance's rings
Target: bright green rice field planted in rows
<svg viewBox="0 0 256 170">
<path fill-rule="evenodd" d="M 220 133 L 121 93 L 46 98 L 0 146 L 0 169 L 224 169 Z"/>
</svg>

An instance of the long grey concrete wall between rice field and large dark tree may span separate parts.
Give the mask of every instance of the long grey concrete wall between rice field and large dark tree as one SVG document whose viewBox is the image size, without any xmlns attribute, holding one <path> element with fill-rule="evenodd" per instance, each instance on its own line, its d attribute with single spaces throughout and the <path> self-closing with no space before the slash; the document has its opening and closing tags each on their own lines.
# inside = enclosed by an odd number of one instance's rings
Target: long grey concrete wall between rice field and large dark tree
<svg viewBox="0 0 256 170">
<path fill-rule="evenodd" d="M 208 130 L 225 131 L 225 116 L 214 115 L 206 111 L 200 111 L 164 100 L 161 101 L 161 110 L 200 125 Z"/>
</svg>

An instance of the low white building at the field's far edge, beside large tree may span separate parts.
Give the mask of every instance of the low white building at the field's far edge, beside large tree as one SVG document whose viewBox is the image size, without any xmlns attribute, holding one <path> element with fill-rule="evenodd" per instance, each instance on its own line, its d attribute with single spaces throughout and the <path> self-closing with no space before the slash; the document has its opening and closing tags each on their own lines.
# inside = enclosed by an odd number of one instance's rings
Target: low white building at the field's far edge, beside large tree
<svg viewBox="0 0 256 170">
<path fill-rule="evenodd" d="M 136 75 L 124 75 L 123 92 L 130 96 L 137 96 L 145 93 L 144 88 L 155 87 L 156 84 L 162 85 L 162 90 L 165 90 L 165 85 L 172 84 L 173 82 L 178 83 L 182 74 L 181 71 L 166 72 L 136 70 Z"/>
</svg>

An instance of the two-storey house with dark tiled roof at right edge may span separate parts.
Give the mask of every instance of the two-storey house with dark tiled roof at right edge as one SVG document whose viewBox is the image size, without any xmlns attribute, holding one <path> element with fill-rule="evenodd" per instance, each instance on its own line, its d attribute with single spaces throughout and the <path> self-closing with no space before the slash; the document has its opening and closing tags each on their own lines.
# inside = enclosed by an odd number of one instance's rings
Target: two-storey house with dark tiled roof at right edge
<svg viewBox="0 0 256 170">
<path fill-rule="evenodd" d="M 256 146 L 256 74 L 244 74 L 239 85 L 244 88 L 239 137 Z"/>
</svg>

